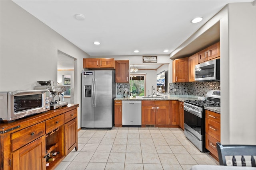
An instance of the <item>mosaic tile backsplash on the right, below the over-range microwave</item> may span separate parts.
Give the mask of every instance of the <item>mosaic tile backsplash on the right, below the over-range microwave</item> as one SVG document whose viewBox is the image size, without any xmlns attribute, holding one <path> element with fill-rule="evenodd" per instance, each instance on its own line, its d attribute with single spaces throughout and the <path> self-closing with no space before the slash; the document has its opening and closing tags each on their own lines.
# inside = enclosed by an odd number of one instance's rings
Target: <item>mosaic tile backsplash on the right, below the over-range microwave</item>
<svg viewBox="0 0 256 170">
<path fill-rule="evenodd" d="M 206 96 L 209 90 L 220 90 L 220 82 L 185 82 L 170 83 L 169 94 L 171 95 L 194 95 Z"/>
</svg>

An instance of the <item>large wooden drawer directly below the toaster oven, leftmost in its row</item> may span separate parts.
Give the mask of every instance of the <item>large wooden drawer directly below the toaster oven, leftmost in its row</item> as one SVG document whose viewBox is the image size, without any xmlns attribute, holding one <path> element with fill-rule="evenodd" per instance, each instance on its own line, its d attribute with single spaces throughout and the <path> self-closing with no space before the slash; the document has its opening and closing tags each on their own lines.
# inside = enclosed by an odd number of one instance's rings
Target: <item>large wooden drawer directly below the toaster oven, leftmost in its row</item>
<svg viewBox="0 0 256 170">
<path fill-rule="evenodd" d="M 45 134 L 45 122 L 27 127 L 18 132 L 11 134 L 12 150 L 17 150 L 20 147 L 36 140 Z"/>
</svg>

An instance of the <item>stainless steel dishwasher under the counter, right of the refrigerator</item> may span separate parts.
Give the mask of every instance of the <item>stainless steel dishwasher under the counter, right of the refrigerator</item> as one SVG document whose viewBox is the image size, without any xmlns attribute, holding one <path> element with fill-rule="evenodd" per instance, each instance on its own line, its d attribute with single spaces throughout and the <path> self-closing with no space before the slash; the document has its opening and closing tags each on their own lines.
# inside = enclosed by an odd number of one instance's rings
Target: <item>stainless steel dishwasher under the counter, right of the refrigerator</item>
<svg viewBox="0 0 256 170">
<path fill-rule="evenodd" d="M 122 100 L 122 126 L 141 127 L 141 100 Z"/>
</svg>

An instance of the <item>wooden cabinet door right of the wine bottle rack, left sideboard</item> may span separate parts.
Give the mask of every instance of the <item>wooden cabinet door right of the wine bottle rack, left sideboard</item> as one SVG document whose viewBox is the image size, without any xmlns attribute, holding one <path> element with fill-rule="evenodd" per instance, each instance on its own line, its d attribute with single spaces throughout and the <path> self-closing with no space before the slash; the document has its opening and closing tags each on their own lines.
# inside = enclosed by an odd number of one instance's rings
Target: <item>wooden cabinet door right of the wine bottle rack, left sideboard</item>
<svg viewBox="0 0 256 170">
<path fill-rule="evenodd" d="M 77 141 L 77 119 L 73 119 L 68 123 L 64 124 L 65 130 L 65 155 L 68 155 L 72 149 L 78 149 Z"/>
</svg>

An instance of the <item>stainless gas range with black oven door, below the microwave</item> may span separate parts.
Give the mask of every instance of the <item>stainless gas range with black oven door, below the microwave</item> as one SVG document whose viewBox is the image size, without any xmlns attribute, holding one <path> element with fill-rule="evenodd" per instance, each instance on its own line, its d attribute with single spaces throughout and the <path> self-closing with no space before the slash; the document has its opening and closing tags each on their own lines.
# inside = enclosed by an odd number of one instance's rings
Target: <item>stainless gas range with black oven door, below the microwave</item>
<svg viewBox="0 0 256 170">
<path fill-rule="evenodd" d="M 184 101 L 184 134 L 201 151 L 205 148 L 205 106 L 220 106 L 220 91 L 211 90 L 203 100 Z"/>
</svg>

